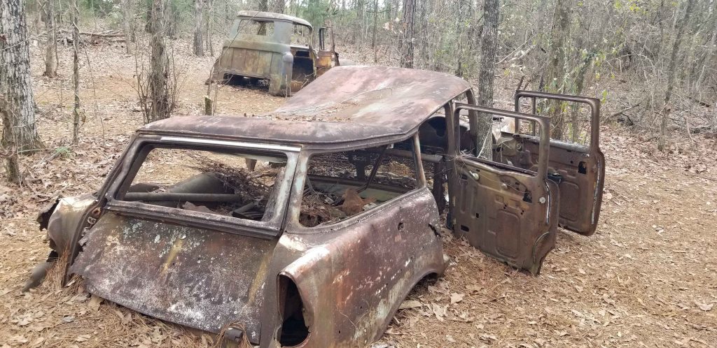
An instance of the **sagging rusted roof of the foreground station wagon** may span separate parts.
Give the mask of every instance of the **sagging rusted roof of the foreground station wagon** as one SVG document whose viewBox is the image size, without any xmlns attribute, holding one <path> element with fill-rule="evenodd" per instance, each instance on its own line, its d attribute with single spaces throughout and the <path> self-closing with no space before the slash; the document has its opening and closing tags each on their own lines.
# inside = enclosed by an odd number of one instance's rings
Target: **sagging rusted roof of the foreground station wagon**
<svg viewBox="0 0 717 348">
<path fill-rule="evenodd" d="M 293 145 L 399 140 L 446 102 L 470 89 L 464 79 L 441 72 L 396 67 L 335 67 L 285 105 L 260 117 L 171 117 L 141 133 Z"/>
</svg>

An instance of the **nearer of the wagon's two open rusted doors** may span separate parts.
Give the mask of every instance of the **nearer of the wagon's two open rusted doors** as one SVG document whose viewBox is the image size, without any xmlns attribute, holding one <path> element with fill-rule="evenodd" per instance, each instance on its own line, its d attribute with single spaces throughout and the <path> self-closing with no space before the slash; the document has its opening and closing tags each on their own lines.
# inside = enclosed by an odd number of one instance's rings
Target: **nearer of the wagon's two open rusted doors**
<svg viewBox="0 0 717 348">
<path fill-rule="evenodd" d="M 457 103 L 449 117 L 451 222 L 457 236 L 484 253 L 538 274 L 555 245 L 558 187 L 546 179 L 548 135 L 541 132 L 536 170 L 526 170 L 458 150 L 460 111 L 481 117 L 515 117 L 549 129 L 549 119 Z M 485 114 L 483 113 L 485 112 Z"/>
</svg>

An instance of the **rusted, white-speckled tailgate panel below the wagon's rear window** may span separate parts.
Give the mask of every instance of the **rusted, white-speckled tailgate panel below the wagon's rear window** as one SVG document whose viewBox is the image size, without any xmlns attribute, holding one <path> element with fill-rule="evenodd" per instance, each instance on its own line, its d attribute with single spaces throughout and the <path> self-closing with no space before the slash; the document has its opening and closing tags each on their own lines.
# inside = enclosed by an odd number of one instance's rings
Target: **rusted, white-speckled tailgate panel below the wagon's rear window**
<svg viewBox="0 0 717 348">
<path fill-rule="evenodd" d="M 275 239 L 107 213 L 81 243 L 70 271 L 92 294 L 208 332 L 242 322 L 258 342 Z"/>
</svg>

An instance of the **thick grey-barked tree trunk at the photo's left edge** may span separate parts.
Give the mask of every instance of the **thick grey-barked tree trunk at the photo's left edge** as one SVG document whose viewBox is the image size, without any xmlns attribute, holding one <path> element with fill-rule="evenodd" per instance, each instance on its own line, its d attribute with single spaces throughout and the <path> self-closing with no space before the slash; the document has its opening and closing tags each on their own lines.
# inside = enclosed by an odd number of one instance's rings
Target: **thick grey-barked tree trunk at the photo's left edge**
<svg viewBox="0 0 717 348">
<path fill-rule="evenodd" d="M 0 1 L 0 95 L 5 96 L 12 119 L 3 139 L 14 142 L 21 152 L 40 146 L 23 4 L 22 0 Z"/>
</svg>

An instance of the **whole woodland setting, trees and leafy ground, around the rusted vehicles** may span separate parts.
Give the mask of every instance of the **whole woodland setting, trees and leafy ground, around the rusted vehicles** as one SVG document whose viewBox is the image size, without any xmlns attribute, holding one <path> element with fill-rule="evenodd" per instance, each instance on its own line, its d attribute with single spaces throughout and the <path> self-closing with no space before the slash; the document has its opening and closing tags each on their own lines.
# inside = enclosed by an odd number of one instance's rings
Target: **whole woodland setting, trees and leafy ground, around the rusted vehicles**
<svg viewBox="0 0 717 348">
<path fill-rule="evenodd" d="M 81 286 L 21 289 L 49 250 L 37 212 L 96 190 L 136 128 L 204 96 L 229 115 L 285 101 L 204 84 L 241 9 L 333 26 L 359 64 L 457 74 L 483 105 L 602 100 L 597 234 L 561 231 L 530 277 L 445 233 L 446 276 L 374 347 L 717 347 L 714 0 L 0 1 L 0 347 L 214 344 Z"/>
</svg>

